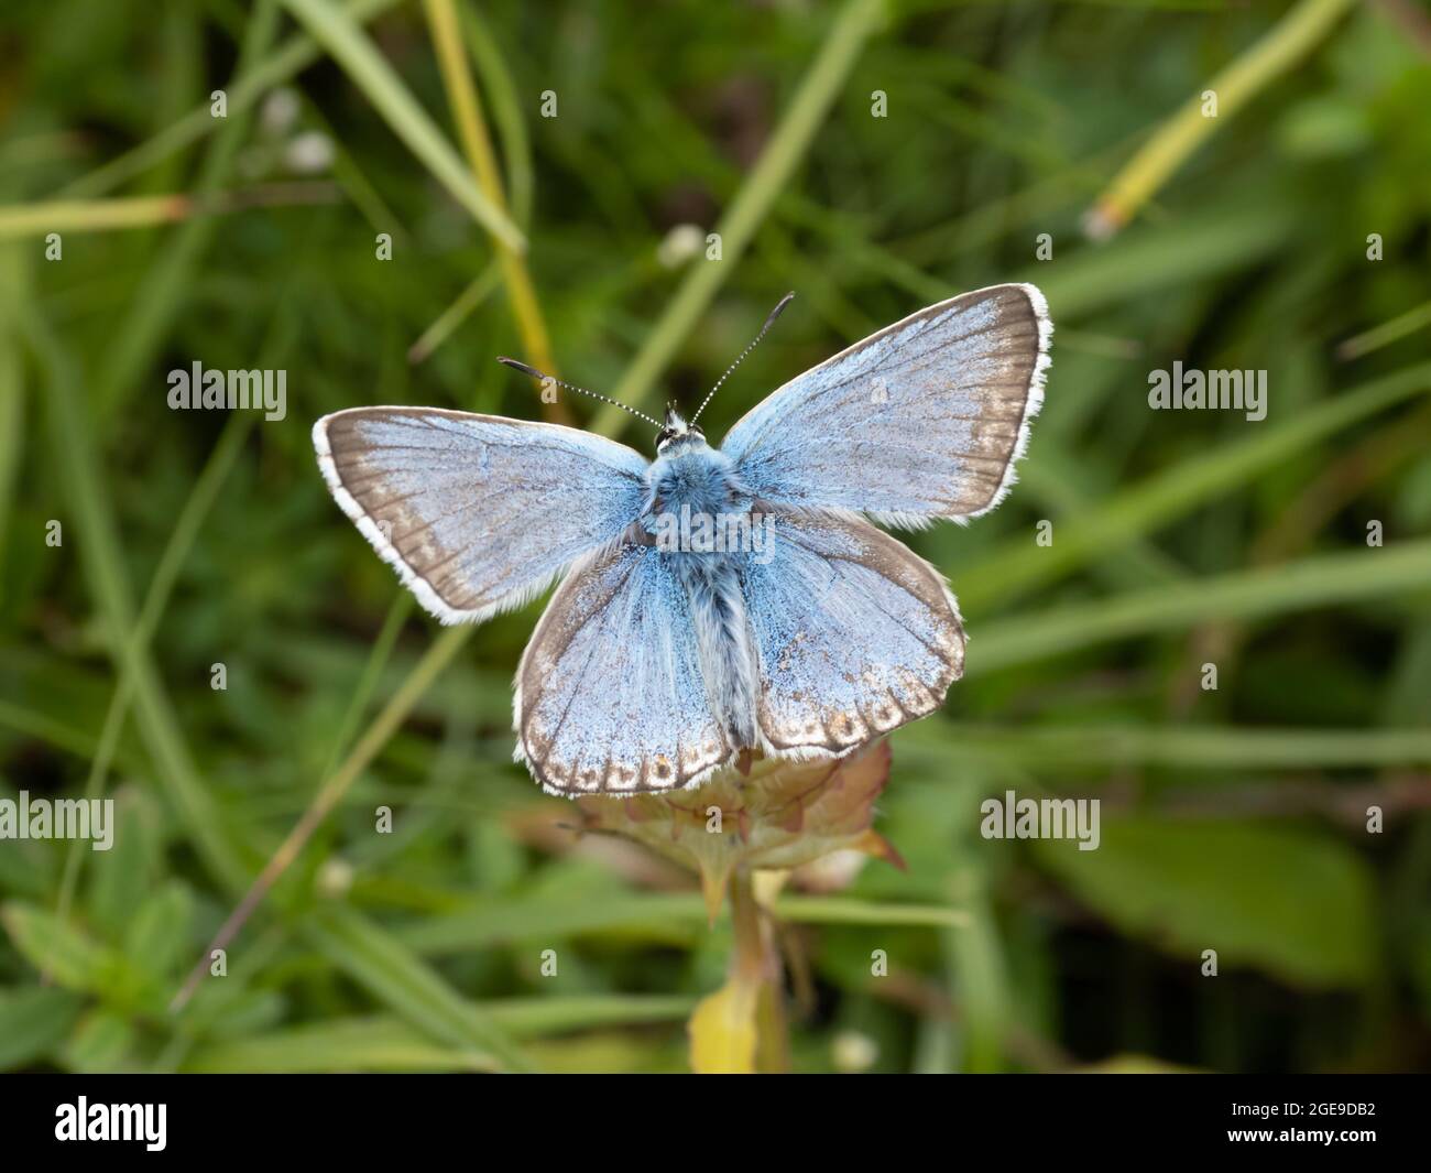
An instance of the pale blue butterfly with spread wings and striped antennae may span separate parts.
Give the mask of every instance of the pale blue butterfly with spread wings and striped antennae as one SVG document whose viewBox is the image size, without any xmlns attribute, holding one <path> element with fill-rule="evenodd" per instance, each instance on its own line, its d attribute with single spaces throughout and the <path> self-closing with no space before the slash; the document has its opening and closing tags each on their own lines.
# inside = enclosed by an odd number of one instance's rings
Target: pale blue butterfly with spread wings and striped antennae
<svg viewBox="0 0 1431 1173">
<path fill-rule="evenodd" d="M 514 689 L 515 758 L 551 793 L 695 786 L 743 750 L 843 756 L 937 709 L 963 673 L 943 576 L 871 521 L 964 523 L 1003 500 L 1043 398 L 1043 295 L 995 285 L 930 305 L 711 447 L 701 411 L 787 302 L 690 423 L 625 408 L 658 428 L 654 460 L 439 408 L 313 425 L 338 504 L 442 623 L 561 579 Z"/>
</svg>

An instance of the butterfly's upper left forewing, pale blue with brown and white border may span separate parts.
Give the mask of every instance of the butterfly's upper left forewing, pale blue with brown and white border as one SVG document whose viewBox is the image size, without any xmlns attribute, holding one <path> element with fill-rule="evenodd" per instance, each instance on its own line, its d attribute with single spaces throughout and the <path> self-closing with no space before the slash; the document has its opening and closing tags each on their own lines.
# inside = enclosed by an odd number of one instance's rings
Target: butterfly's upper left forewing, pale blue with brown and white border
<svg viewBox="0 0 1431 1173">
<path fill-rule="evenodd" d="M 645 460 L 574 428 L 414 407 L 313 424 L 338 504 L 444 623 L 539 594 L 641 511 Z"/>
</svg>

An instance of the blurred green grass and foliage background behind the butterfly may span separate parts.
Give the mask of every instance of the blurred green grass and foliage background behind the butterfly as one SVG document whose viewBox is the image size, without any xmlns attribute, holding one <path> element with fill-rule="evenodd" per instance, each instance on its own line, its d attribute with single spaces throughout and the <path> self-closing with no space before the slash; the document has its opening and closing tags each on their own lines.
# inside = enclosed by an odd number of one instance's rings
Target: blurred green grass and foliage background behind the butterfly
<svg viewBox="0 0 1431 1173">
<path fill-rule="evenodd" d="M 519 335 L 452 195 L 469 176 L 432 170 L 462 155 L 424 4 L 352 6 L 399 89 L 386 109 L 371 66 L 305 32 L 345 7 L 0 14 L 0 796 L 103 792 L 119 819 L 110 852 L 0 842 L 0 1066 L 683 1070 L 728 927 L 634 848 L 578 844 L 511 763 L 538 604 L 472 633 L 372 761 L 349 756 L 436 627 L 333 507 L 312 420 L 541 404 L 492 362 Z M 783 905 L 797 1068 L 1425 1067 L 1415 6 L 1354 6 L 1100 243 L 1080 222 L 1118 169 L 1291 6 L 458 7 L 570 378 L 688 402 L 796 289 L 713 402 L 717 437 L 930 301 L 1007 279 L 1049 296 L 1019 487 L 910 539 L 952 579 L 970 646 L 946 710 L 894 738 L 879 826 L 909 869 Z M 441 140 L 419 158 L 422 112 Z M 96 221 L 172 193 L 193 198 L 179 222 Z M 683 225 L 727 233 L 724 259 L 678 255 Z M 170 411 L 167 371 L 196 359 L 285 368 L 286 418 Z M 1176 359 L 1266 370 L 1266 420 L 1149 411 L 1149 371 Z M 170 1014 L 343 761 L 363 768 L 228 975 Z M 982 839 L 979 803 L 1006 789 L 1102 798 L 1100 848 Z"/>
</svg>

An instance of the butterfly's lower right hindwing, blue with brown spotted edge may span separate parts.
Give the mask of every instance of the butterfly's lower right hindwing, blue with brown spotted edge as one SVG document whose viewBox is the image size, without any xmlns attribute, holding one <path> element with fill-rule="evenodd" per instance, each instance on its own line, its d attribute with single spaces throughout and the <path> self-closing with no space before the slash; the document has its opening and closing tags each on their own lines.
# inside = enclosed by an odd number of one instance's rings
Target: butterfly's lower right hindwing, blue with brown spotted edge
<svg viewBox="0 0 1431 1173">
<path fill-rule="evenodd" d="M 771 551 L 748 556 L 743 580 L 768 748 L 846 753 L 937 709 L 964 665 L 939 571 L 853 514 L 757 510 L 771 514 Z"/>
</svg>

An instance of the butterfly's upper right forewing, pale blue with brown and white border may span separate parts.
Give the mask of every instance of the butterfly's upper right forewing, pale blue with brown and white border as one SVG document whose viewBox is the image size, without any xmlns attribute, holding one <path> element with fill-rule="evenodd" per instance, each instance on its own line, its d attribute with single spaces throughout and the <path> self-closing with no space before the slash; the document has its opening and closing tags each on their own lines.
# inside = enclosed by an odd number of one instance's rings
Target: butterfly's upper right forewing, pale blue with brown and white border
<svg viewBox="0 0 1431 1173">
<path fill-rule="evenodd" d="M 1032 285 L 939 302 L 787 382 L 721 451 L 768 501 L 893 526 L 976 517 L 1013 483 L 1052 332 Z"/>
</svg>

